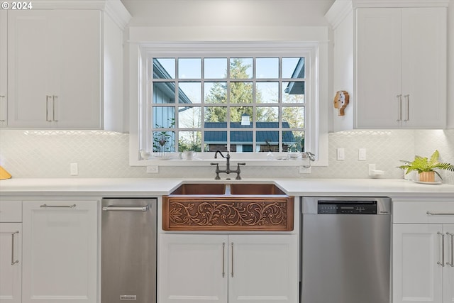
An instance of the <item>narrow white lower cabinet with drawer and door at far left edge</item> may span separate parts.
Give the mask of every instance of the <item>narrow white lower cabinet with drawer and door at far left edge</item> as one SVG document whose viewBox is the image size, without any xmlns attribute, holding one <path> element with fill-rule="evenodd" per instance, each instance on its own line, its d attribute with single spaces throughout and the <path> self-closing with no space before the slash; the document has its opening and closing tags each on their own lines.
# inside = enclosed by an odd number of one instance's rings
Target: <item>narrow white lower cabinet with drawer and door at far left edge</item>
<svg viewBox="0 0 454 303">
<path fill-rule="evenodd" d="M 22 203 L 0 201 L 0 303 L 21 303 Z"/>
</svg>

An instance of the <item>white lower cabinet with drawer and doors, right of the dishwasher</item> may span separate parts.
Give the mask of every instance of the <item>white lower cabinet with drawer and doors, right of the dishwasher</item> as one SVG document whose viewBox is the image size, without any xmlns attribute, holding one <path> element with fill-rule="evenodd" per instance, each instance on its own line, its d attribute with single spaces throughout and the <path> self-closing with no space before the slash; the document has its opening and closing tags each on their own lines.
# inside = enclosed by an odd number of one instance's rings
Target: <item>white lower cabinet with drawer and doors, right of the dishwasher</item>
<svg viewBox="0 0 454 303">
<path fill-rule="evenodd" d="M 394 202 L 393 303 L 452 303 L 454 202 L 412 204 Z"/>
</svg>

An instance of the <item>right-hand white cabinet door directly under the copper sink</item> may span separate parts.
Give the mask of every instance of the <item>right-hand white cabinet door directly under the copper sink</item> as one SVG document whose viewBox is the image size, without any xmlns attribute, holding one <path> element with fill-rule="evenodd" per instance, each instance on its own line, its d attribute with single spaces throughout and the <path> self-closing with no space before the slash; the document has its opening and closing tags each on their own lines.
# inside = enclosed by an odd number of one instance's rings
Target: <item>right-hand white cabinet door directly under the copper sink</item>
<svg viewBox="0 0 454 303">
<path fill-rule="evenodd" d="M 228 302 L 297 302 L 295 235 L 228 236 Z"/>
</svg>

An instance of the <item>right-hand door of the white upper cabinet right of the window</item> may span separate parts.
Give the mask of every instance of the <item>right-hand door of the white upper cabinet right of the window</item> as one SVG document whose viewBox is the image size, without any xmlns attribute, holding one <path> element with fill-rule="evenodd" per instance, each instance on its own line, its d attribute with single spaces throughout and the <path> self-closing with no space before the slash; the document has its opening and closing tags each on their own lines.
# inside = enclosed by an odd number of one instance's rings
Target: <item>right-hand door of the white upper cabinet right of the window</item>
<svg viewBox="0 0 454 303">
<path fill-rule="evenodd" d="M 446 8 L 402 9 L 404 128 L 446 127 Z"/>
</svg>

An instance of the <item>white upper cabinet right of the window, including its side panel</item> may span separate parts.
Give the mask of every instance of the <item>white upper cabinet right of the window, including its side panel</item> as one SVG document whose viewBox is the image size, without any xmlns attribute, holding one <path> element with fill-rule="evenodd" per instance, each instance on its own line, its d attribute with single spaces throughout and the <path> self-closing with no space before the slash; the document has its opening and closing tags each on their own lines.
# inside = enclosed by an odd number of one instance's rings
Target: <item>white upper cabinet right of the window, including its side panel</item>
<svg viewBox="0 0 454 303">
<path fill-rule="evenodd" d="M 326 14 L 333 88 L 350 94 L 334 131 L 446 127 L 448 1 L 401 2 L 336 1 Z"/>
</svg>

